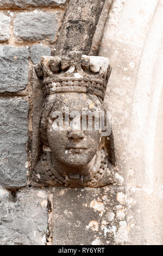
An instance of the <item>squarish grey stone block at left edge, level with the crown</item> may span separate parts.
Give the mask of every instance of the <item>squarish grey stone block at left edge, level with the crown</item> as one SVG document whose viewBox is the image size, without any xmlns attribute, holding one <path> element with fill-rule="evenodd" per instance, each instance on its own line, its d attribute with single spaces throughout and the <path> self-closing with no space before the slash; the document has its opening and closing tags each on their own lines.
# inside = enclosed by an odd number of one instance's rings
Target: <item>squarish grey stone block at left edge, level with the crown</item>
<svg viewBox="0 0 163 256">
<path fill-rule="evenodd" d="M 0 46 L 0 92 L 17 92 L 28 84 L 28 50 Z"/>
</svg>

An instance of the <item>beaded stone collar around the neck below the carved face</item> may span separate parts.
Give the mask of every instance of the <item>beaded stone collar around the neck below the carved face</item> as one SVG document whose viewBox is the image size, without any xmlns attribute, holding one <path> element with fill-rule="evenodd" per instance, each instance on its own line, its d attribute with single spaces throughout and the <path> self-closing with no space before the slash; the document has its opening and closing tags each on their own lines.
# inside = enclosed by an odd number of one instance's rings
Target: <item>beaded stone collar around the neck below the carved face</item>
<svg viewBox="0 0 163 256">
<path fill-rule="evenodd" d="M 40 161 L 35 167 L 33 180 L 38 186 L 64 186 L 64 187 L 99 187 L 104 179 L 108 179 L 109 161 L 103 149 L 96 154 L 94 167 L 90 168 L 89 174 L 62 176 L 55 170 L 51 152 L 43 152 Z"/>
</svg>

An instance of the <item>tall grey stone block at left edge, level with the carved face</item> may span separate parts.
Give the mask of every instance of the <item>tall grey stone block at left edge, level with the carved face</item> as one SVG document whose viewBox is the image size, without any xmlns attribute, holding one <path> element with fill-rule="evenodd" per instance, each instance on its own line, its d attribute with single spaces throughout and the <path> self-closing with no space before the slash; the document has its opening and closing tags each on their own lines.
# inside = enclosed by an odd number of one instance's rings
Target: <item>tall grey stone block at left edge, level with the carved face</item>
<svg viewBox="0 0 163 256">
<path fill-rule="evenodd" d="M 22 98 L 0 100 L 0 181 L 3 187 L 26 185 L 28 102 Z"/>
</svg>

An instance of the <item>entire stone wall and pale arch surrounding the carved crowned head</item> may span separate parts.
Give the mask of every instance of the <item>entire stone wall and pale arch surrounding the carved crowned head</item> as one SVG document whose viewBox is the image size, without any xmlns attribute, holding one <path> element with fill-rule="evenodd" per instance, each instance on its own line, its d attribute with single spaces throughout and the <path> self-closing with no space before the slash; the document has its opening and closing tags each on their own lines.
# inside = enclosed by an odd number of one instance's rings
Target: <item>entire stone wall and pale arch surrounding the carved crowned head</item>
<svg viewBox="0 0 163 256">
<path fill-rule="evenodd" d="M 162 0 L 106 0 L 93 39 L 91 54 L 109 57 L 112 66 L 105 106 L 112 112 L 117 183 L 83 189 L 30 185 L 33 64 L 55 54 L 67 4 L 0 0 L 0 244 L 161 244 L 162 156 L 156 157 L 162 148 L 162 77 L 155 66 L 161 70 L 162 33 L 156 33 L 155 20 Z"/>
</svg>

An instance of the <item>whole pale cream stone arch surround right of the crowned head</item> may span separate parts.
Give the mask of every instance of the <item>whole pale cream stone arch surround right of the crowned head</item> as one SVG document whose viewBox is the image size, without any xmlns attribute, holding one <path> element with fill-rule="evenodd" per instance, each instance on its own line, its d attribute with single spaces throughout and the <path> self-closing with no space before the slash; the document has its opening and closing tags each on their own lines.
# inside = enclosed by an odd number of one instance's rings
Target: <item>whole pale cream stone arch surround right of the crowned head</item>
<svg viewBox="0 0 163 256">
<path fill-rule="evenodd" d="M 113 116 L 116 164 L 123 177 L 127 174 L 131 245 L 162 244 L 162 119 L 161 132 L 156 129 L 163 84 L 162 7 L 162 0 L 115 0 L 99 50 L 112 66 L 105 103 Z"/>
</svg>

